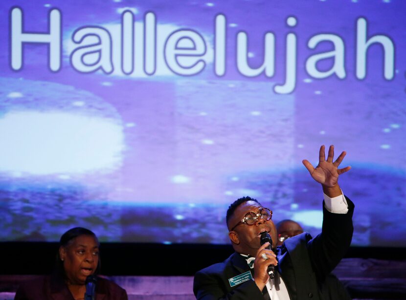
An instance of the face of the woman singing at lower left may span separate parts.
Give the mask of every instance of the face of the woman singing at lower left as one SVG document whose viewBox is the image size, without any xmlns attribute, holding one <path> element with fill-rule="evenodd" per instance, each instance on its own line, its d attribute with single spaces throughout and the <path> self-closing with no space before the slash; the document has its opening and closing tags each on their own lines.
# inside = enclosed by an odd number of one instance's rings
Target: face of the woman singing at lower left
<svg viewBox="0 0 406 300">
<path fill-rule="evenodd" d="M 81 235 L 59 248 L 65 274 L 70 284 L 85 284 L 99 263 L 99 242 L 94 236 Z"/>
</svg>

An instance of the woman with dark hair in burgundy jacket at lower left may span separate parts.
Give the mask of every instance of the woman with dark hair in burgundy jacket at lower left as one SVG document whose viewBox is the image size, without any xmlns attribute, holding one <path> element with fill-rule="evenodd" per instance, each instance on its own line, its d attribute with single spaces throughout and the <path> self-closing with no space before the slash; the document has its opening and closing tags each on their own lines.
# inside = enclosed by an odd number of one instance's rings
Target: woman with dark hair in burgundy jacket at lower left
<svg viewBox="0 0 406 300">
<path fill-rule="evenodd" d="M 97 277 L 99 271 L 99 241 L 96 235 L 82 227 L 69 229 L 60 240 L 55 272 L 21 284 L 14 300 L 82 300 L 87 292 L 88 277 L 95 278 L 94 300 L 127 300 L 123 288 Z M 90 297 L 90 292 L 87 293 Z"/>
</svg>

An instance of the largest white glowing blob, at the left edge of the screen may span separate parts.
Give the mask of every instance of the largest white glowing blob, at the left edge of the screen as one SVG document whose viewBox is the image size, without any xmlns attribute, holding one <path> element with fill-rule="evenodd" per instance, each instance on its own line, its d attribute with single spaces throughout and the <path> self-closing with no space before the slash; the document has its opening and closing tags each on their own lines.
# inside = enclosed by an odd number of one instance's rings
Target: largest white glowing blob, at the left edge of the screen
<svg viewBox="0 0 406 300">
<path fill-rule="evenodd" d="M 0 118 L 0 172 L 31 175 L 116 168 L 124 134 L 112 119 L 65 112 L 9 112 Z"/>
</svg>

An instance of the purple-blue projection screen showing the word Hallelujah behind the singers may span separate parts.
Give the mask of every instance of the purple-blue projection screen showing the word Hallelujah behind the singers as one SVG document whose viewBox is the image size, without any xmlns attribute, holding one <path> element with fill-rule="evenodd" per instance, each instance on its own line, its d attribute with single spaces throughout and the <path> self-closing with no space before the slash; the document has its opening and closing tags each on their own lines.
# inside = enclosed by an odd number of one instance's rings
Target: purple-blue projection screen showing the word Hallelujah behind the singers
<svg viewBox="0 0 406 300">
<path fill-rule="evenodd" d="M 301 161 L 347 151 L 353 245 L 406 246 L 403 0 L 2 0 L 0 240 L 228 243 L 251 196 L 321 227 Z"/>
</svg>

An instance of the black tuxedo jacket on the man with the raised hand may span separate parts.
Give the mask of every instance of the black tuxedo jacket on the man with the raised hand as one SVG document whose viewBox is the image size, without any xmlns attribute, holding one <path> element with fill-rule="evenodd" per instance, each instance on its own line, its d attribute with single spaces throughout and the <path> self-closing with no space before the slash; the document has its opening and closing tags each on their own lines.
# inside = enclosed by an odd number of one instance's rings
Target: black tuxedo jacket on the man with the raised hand
<svg viewBox="0 0 406 300">
<path fill-rule="evenodd" d="M 291 300 L 324 300 L 321 286 L 337 266 L 351 244 L 354 204 L 346 198 L 348 213 L 330 213 L 323 205 L 321 234 L 314 239 L 303 233 L 288 239 L 275 253 L 277 272 L 288 289 Z M 228 279 L 251 271 L 247 261 L 238 253 L 221 263 L 211 265 L 195 274 L 193 291 L 198 300 L 263 300 L 253 280 L 231 287 Z M 253 274 L 252 274 L 253 276 Z"/>
</svg>

